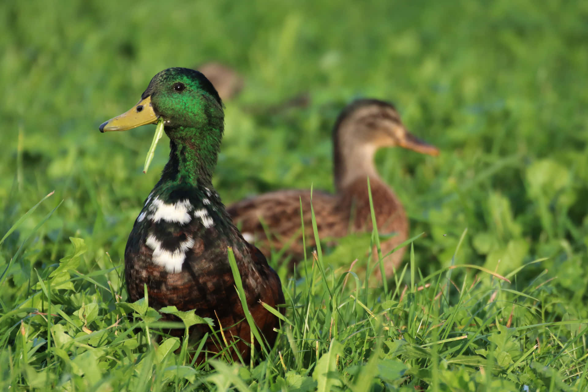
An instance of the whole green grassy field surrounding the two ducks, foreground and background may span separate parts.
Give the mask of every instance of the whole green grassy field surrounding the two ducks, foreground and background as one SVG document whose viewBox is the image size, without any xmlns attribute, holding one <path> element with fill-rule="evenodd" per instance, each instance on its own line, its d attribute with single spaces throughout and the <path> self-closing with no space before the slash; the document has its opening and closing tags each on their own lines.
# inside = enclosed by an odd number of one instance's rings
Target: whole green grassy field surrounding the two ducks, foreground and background
<svg viewBox="0 0 588 392">
<path fill-rule="evenodd" d="M 588 2 L 0 9 L 1 390 L 588 389 Z M 246 79 L 226 103 L 225 203 L 332 190 L 331 127 L 357 97 L 395 102 L 441 154 L 377 155 L 425 233 L 387 290 L 346 273 L 366 264 L 346 242 L 307 273 L 274 257 L 288 304 L 274 349 L 194 367 L 177 339 L 149 339 L 155 314 L 124 304 L 123 250 L 166 142 L 143 175 L 153 128 L 98 125 L 156 72 L 211 59 Z M 268 110 L 306 92 L 306 108 Z"/>
</svg>

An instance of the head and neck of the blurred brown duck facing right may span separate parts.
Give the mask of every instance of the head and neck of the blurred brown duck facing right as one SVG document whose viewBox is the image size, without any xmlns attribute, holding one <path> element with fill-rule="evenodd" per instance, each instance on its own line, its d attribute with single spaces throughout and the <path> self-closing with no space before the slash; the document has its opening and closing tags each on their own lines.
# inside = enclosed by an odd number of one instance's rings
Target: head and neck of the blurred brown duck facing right
<svg viewBox="0 0 588 392">
<path fill-rule="evenodd" d="M 359 176 L 377 177 L 373 156 L 383 147 L 403 147 L 427 155 L 439 150 L 410 133 L 392 103 L 358 99 L 339 114 L 333 128 L 335 185 L 342 189 Z"/>
</svg>

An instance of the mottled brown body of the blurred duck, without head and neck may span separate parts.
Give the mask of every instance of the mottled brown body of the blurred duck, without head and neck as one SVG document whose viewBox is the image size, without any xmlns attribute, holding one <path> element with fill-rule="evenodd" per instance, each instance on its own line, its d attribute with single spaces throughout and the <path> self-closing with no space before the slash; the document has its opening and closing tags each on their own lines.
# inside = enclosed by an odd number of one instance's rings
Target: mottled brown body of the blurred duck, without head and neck
<svg viewBox="0 0 588 392">
<path fill-rule="evenodd" d="M 408 238 L 409 222 L 395 193 L 382 180 L 370 179 L 370 190 L 372 199 L 378 201 L 374 203 L 373 209 L 379 233 L 393 234 L 390 239 L 380 243 L 382 254 L 387 254 Z M 316 246 L 316 242 L 312 230 L 309 190 L 278 190 L 266 193 L 230 206 L 229 213 L 239 222 L 243 233 L 254 233 L 256 238 L 263 238 L 256 242 L 263 254 L 269 256 L 272 247 L 286 247 L 286 253 L 293 260 L 299 261 L 304 256 L 300 200 L 306 232 L 305 243 L 312 248 Z M 385 202 L 380 203 L 381 200 Z M 320 239 L 333 240 L 350 233 L 370 232 L 373 229 L 367 179 L 359 178 L 335 195 L 313 190 L 312 205 Z M 284 219 L 284 216 L 292 219 Z M 265 236 L 263 225 L 269 227 L 269 240 Z M 400 264 L 404 252 L 405 249 L 401 248 L 387 257 L 387 276 L 393 273 L 393 267 Z"/>
</svg>

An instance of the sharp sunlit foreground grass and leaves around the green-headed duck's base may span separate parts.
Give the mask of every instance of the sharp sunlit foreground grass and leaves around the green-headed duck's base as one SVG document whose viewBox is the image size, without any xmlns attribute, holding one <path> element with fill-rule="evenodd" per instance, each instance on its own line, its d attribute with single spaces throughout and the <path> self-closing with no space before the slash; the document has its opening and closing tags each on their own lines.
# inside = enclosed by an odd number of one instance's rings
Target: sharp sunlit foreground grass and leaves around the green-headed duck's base
<svg viewBox="0 0 588 392">
<path fill-rule="evenodd" d="M 238 390 L 321 391 L 427 385 L 517 390 L 522 384 L 552 383 L 586 387 L 579 375 L 586 367 L 588 320 L 561 320 L 544 274 L 513 286 L 526 266 L 500 276 L 479 266 L 453 265 L 429 276 L 412 274 L 409 285 L 398 282 L 386 292 L 370 288 L 352 271 L 335 272 L 323 264 L 319 248 L 305 262 L 306 278 L 283 281 L 286 315 L 275 347 L 262 345 L 262 361 L 226 364 L 219 362 L 221 354 L 195 366 L 186 354 L 198 352 L 202 344 L 188 347 L 186 339 L 182 344 L 165 334 L 156 339 L 161 327 L 183 326 L 158 321 L 147 301 L 125 303 L 120 267 L 80 274 L 88 249 L 82 239 L 71 242 L 59 264 L 35 272 L 38 283 L 29 287 L 28 297 L 0 317 L 3 355 L 10 362 L 3 373 L 5 386 L 171 390 L 232 385 Z M 459 259 L 457 250 L 455 256 Z M 417 270 L 416 261 L 411 246 L 410 270 Z M 450 279 L 450 271 L 458 272 L 459 279 Z M 239 282 L 236 290 L 242 290 Z M 182 313 L 185 328 L 211 322 L 193 312 L 165 311 Z M 211 368 L 216 373 L 209 373 Z"/>
</svg>

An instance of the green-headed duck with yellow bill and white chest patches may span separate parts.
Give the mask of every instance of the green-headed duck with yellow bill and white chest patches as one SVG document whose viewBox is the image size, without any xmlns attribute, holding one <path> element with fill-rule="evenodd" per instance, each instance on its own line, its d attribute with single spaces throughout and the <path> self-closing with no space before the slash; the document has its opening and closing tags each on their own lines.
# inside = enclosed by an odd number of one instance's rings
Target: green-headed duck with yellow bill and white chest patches
<svg viewBox="0 0 588 392">
<path fill-rule="evenodd" d="M 212 186 L 224 130 L 223 103 L 212 83 L 189 68 L 168 68 L 153 76 L 139 102 L 99 126 L 100 132 L 123 131 L 163 122 L 169 160 L 146 197 L 125 248 L 128 297 L 144 297 L 160 310 L 175 306 L 215 322 L 222 339 L 208 337 L 196 361 L 223 351 L 233 360 L 250 359 L 251 334 L 228 261 L 232 249 L 248 309 L 263 338 L 276 340 L 279 319 L 262 303 L 285 303 L 278 274 L 263 253 L 246 242 Z M 283 313 L 283 307 L 280 307 Z M 162 314 L 163 320 L 179 321 Z M 178 336 L 183 331 L 178 331 Z M 173 332 L 173 331 L 172 331 Z M 208 324 L 196 324 L 189 340 L 213 336 Z M 216 334 L 220 337 L 220 334 Z M 234 344 L 233 344 L 234 343 Z M 259 343 L 256 342 L 259 349 Z"/>
</svg>

